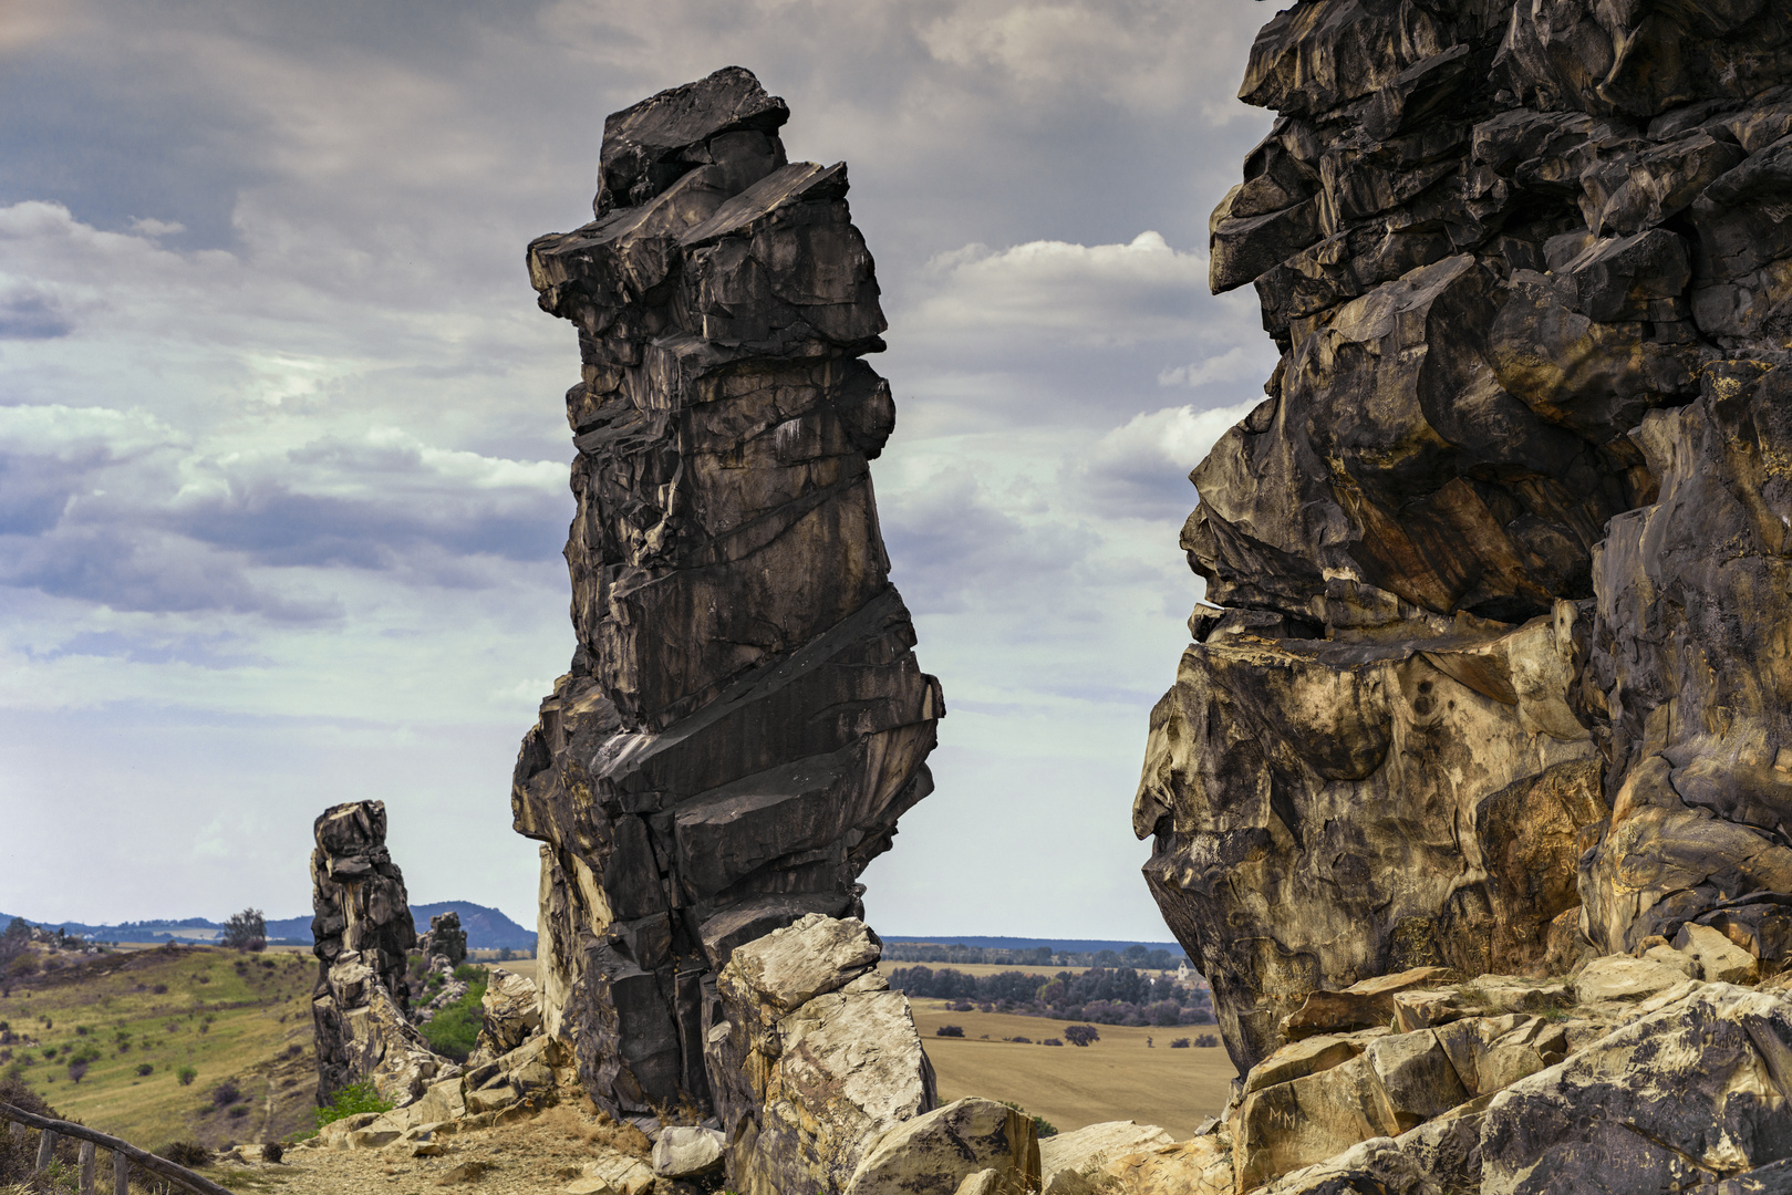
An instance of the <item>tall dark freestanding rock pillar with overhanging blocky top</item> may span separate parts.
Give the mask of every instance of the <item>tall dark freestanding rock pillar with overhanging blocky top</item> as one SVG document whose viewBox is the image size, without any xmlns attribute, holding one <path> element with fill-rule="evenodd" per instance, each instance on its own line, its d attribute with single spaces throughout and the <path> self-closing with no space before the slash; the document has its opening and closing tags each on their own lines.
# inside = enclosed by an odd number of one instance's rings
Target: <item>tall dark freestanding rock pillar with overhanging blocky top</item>
<svg viewBox="0 0 1792 1195">
<path fill-rule="evenodd" d="M 572 670 L 523 740 L 543 1019 L 611 1113 L 708 1109 L 713 975 L 857 876 L 944 715 L 878 532 L 896 412 L 846 167 L 787 163 L 745 70 L 604 124 L 597 220 L 538 238 L 579 330 Z"/>
</svg>

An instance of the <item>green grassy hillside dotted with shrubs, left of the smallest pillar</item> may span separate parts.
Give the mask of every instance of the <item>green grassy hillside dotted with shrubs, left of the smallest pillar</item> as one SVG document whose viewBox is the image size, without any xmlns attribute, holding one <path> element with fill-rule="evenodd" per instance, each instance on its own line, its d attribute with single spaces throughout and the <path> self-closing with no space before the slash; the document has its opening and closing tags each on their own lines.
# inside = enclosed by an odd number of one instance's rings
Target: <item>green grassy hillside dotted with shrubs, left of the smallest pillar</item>
<svg viewBox="0 0 1792 1195">
<path fill-rule="evenodd" d="M 63 1116 L 151 1150 L 276 1139 L 312 1123 L 315 975 L 308 953 L 176 946 L 11 980 L 0 987 L 13 1037 L 0 1073 Z M 235 1098 L 219 1100 L 220 1086 Z"/>
</svg>

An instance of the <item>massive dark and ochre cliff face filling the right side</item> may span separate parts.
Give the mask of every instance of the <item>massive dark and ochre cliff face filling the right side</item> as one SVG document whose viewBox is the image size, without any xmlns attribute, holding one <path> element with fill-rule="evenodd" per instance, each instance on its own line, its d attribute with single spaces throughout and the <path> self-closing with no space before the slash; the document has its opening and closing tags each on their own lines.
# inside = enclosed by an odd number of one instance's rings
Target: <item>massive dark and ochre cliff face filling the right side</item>
<svg viewBox="0 0 1792 1195">
<path fill-rule="evenodd" d="M 1147 880 L 1249 1066 L 1312 989 L 1688 921 L 1792 950 L 1792 4 L 1301 0 L 1213 213 L 1267 400 Z M 1564 955 L 1566 951 L 1566 955 Z"/>
</svg>

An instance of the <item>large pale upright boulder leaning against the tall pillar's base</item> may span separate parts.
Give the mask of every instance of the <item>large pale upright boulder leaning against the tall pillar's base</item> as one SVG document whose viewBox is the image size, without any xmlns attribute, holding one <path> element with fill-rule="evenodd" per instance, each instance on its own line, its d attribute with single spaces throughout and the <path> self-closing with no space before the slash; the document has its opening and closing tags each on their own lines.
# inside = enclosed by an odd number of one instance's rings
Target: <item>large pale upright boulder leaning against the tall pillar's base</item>
<svg viewBox="0 0 1792 1195">
<path fill-rule="evenodd" d="M 717 976 L 706 1061 L 740 1195 L 835 1195 L 874 1139 L 937 1102 L 878 955 L 864 923 L 812 914 L 735 948 Z"/>
</svg>

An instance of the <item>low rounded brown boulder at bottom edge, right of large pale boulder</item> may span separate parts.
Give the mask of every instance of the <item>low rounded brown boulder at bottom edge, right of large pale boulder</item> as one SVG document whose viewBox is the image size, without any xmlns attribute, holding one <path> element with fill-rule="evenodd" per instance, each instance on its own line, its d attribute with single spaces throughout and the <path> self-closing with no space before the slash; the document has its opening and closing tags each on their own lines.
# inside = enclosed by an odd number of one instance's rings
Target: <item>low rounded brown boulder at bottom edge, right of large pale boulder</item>
<svg viewBox="0 0 1792 1195">
<path fill-rule="evenodd" d="M 883 1132 L 853 1170 L 848 1195 L 953 1195 L 980 1170 L 1007 1190 L 1039 1188 L 1039 1138 L 1032 1118 L 966 1098 Z"/>
</svg>

